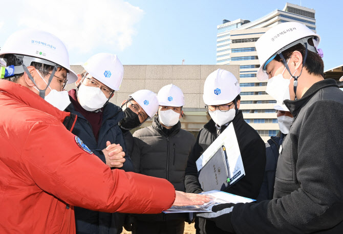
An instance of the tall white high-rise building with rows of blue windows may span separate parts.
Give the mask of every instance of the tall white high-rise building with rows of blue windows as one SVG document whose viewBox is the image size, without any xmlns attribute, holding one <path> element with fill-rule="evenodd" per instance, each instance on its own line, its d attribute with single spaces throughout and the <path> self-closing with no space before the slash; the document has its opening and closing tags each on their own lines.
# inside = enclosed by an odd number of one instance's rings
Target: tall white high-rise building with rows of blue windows
<svg viewBox="0 0 343 234">
<path fill-rule="evenodd" d="M 217 65 L 239 65 L 241 106 L 244 119 L 266 141 L 278 132 L 274 110 L 276 103 L 266 91 L 267 82 L 259 82 L 256 72 L 260 67 L 255 41 L 268 29 L 284 22 L 299 22 L 314 32 L 315 10 L 286 3 L 282 10 L 250 22 L 246 19 L 224 19 L 217 29 Z"/>
</svg>

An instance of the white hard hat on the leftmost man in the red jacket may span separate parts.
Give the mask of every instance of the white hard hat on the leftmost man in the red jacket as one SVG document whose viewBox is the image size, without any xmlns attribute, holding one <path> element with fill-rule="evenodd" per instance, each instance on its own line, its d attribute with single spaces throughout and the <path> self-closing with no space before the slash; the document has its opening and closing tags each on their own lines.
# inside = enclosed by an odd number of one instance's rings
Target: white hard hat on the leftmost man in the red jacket
<svg viewBox="0 0 343 234">
<path fill-rule="evenodd" d="M 77 80 L 75 72 L 70 70 L 69 54 L 65 44 L 51 33 L 32 29 L 17 31 L 10 35 L 1 47 L 0 57 L 4 57 L 5 54 L 24 55 L 23 61 L 26 67 L 29 67 L 31 62 L 52 66 L 56 63 L 67 69 L 68 83 Z"/>
</svg>

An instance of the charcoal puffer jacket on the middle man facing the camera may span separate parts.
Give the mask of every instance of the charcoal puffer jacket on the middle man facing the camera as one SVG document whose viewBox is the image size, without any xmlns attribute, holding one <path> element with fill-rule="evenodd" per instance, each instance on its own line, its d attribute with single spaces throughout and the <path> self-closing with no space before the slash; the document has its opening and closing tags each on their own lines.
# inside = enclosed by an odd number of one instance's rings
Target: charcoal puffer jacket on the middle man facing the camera
<svg viewBox="0 0 343 234">
<path fill-rule="evenodd" d="M 184 192 L 185 169 L 195 137 L 181 129 L 180 121 L 170 131 L 167 136 L 157 117 L 152 126 L 137 130 L 133 135 L 135 144 L 131 159 L 137 173 L 167 179 L 176 190 Z M 137 219 L 166 221 L 185 219 L 187 215 L 140 215 Z"/>
</svg>

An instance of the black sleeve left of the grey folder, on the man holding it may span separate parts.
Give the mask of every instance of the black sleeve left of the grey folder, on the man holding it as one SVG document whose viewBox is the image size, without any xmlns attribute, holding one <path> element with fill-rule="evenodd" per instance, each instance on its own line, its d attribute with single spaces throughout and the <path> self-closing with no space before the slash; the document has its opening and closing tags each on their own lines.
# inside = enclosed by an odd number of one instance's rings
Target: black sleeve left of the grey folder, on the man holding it
<svg viewBox="0 0 343 234">
<path fill-rule="evenodd" d="M 198 134 L 197 141 L 195 142 L 187 161 L 187 167 L 185 172 L 186 193 L 199 194 L 203 192 L 203 190 L 201 189 L 201 185 L 199 183 L 198 169 L 196 165 L 197 159 L 201 156 L 203 152 L 203 148 L 199 144 L 199 137 L 201 135 L 201 131 L 202 130 L 200 130 Z"/>
</svg>

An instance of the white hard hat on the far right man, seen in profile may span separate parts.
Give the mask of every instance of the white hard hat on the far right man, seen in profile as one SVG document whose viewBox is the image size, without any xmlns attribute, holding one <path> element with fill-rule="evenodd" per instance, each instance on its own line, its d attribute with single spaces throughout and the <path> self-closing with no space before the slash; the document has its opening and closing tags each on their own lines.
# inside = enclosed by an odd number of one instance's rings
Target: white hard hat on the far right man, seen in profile
<svg viewBox="0 0 343 234">
<path fill-rule="evenodd" d="M 257 72 L 259 80 L 268 79 L 268 74 L 263 70 L 265 63 L 273 58 L 274 55 L 295 46 L 296 44 L 306 42 L 305 37 L 313 36 L 312 41 L 314 47 L 308 45 L 308 50 L 319 52 L 316 47 L 319 45 L 320 37 L 307 26 L 296 23 L 287 22 L 276 25 L 263 34 L 260 39 L 255 42 L 256 51 L 260 61 L 260 68 Z M 300 40 L 304 38 L 304 40 Z M 268 61 L 269 62 L 269 61 Z"/>
</svg>

